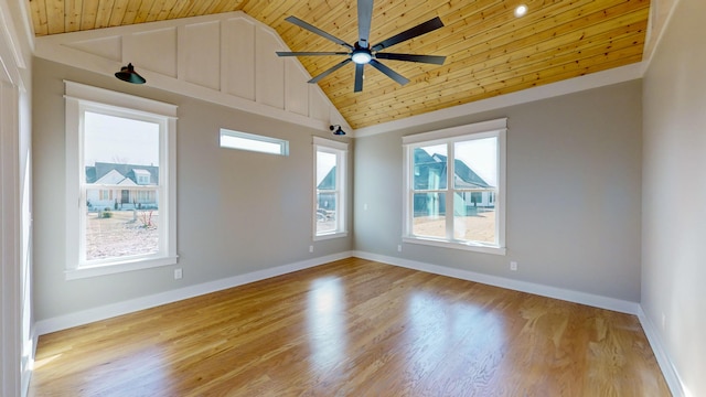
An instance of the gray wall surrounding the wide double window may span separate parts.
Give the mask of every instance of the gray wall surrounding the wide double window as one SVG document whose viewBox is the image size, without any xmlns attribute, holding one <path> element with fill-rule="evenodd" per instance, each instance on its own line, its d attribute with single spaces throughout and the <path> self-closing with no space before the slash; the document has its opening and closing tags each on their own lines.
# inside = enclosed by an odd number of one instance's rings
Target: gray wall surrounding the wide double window
<svg viewBox="0 0 706 397">
<path fill-rule="evenodd" d="M 638 302 L 641 95 L 633 81 L 356 139 L 355 249 Z M 500 117 L 509 118 L 507 255 L 416 244 L 397 253 L 402 137 Z"/>
</svg>

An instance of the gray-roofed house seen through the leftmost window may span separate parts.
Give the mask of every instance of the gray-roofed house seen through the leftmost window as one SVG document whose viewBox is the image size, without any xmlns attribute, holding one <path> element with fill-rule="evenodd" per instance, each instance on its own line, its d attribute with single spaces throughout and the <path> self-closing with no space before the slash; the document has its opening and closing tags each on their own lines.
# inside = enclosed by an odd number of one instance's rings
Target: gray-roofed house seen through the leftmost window
<svg viewBox="0 0 706 397">
<path fill-rule="evenodd" d="M 88 211 L 158 207 L 159 167 L 96 162 L 86 167 L 86 184 Z"/>
</svg>

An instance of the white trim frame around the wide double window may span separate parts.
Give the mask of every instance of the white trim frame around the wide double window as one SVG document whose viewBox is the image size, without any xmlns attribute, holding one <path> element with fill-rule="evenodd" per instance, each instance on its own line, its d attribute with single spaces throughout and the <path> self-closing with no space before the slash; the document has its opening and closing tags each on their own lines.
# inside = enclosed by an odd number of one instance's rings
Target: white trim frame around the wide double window
<svg viewBox="0 0 706 397">
<path fill-rule="evenodd" d="M 475 122 L 467 126 L 447 128 L 437 131 L 416 133 L 403 137 L 404 147 L 404 205 L 403 205 L 403 242 L 410 244 L 420 244 L 435 247 L 463 249 L 475 253 L 505 255 L 505 212 L 506 212 L 506 131 L 507 118 Z M 410 172 L 411 172 L 411 150 L 417 143 L 425 144 L 447 143 L 449 140 L 462 140 L 463 138 L 482 139 L 489 137 L 498 137 L 498 190 L 500 192 L 495 202 L 496 223 L 495 234 L 498 236 L 498 245 L 453 242 L 447 239 L 436 239 L 430 237 L 419 237 L 411 233 L 411 203 L 410 203 Z M 448 225 L 447 225 L 448 227 Z"/>
</svg>

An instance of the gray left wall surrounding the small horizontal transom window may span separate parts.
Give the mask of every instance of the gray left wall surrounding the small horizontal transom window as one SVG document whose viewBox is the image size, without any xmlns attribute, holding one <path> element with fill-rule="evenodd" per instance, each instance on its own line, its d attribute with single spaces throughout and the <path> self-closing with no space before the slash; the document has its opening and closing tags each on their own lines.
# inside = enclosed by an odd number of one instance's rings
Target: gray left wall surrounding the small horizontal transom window
<svg viewBox="0 0 706 397">
<path fill-rule="evenodd" d="M 179 265 L 65 280 L 63 79 L 179 106 Z M 330 131 L 249 115 L 149 85 L 128 85 L 41 58 L 35 60 L 33 82 L 34 307 L 38 321 L 352 248 L 352 237 L 315 243 L 311 239 L 311 137 L 330 138 Z M 221 127 L 287 139 L 290 155 L 221 149 Z M 351 146 L 351 152 L 352 149 Z M 350 163 L 352 170 L 353 162 Z M 313 254 L 309 253 L 310 245 L 314 246 Z M 183 269 L 183 279 L 173 279 L 175 267 Z"/>
</svg>

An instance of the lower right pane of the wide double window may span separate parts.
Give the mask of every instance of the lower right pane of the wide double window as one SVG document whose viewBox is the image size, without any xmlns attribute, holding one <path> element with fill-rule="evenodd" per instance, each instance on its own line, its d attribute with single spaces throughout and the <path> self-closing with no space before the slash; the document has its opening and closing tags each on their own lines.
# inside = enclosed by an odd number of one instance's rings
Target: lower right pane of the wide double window
<svg viewBox="0 0 706 397">
<path fill-rule="evenodd" d="M 453 238 L 464 242 L 496 243 L 495 193 L 459 192 L 453 195 Z"/>
</svg>

